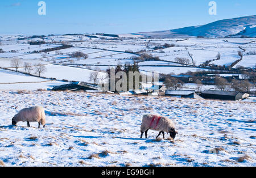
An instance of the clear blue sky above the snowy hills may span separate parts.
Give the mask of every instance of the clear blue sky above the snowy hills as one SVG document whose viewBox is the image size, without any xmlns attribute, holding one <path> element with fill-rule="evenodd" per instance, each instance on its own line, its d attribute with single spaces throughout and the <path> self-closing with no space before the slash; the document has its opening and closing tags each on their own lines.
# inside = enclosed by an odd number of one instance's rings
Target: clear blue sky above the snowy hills
<svg viewBox="0 0 256 178">
<path fill-rule="evenodd" d="M 0 1 L 0 34 L 135 33 L 256 14 L 255 0 L 216 0 L 217 15 L 208 13 L 210 0 L 44 0 L 43 16 L 38 2 Z"/>
</svg>

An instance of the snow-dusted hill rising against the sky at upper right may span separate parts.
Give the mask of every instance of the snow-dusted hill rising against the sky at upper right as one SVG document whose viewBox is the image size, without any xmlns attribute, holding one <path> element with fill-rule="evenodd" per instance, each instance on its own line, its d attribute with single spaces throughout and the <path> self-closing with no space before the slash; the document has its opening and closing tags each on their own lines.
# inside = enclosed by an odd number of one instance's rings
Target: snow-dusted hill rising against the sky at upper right
<svg viewBox="0 0 256 178">
<path fill-rule="evenodd" d="M 241 18 L 219 20 L 203 26 L 185 27 L 172 29 L 170 31 L 159 32 L 142 32 L 138 35 L 151 37 L 188 37 L 188 36 L 203 36 L 203 37 L 227 37 L 241 35 L 256 37 L 256 15 L 245 16 Z"/>
</svg>

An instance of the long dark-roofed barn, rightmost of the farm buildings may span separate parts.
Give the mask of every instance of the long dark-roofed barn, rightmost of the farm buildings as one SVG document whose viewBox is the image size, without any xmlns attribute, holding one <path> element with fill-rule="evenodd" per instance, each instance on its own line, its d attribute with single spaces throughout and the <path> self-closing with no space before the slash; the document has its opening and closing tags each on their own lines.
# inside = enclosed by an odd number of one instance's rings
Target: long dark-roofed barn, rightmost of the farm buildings
<svg viewBox="0 0 256 178">
<path fill-rule="evenodd" d="M 241 100 L 243 94 L 238 91 L 216 91 L 216 90 L 205 90 L 200 95 L 204 99 L 219 99 L 219 100 Z"/>
</svg>

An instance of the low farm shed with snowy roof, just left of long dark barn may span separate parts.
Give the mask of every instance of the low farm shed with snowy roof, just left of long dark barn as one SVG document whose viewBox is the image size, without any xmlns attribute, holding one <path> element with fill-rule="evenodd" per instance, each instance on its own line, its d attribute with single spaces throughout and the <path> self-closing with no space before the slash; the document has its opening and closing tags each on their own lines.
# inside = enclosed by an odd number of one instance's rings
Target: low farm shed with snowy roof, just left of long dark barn
<svg viewBox="0 0 256 178">
<path fill-rule="evenodd" d="M 193 90 L 166 90 L 166 96 L 176 96 L 180 98 L 195 98 L 203 99 L 196 94 L 196 91 Z"/>
</svg>

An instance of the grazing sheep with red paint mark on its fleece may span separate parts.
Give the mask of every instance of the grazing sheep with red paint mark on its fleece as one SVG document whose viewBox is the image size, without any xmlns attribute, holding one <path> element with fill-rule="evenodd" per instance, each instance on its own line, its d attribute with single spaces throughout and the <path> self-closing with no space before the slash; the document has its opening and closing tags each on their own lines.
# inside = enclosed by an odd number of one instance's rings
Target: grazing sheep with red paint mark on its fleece
<svg viewBox="0 0 256 178">
<path fill-rule="evenodd" d="M 158 137 L 161 133 L 163 133 L 164 138 L 164 132 L 170 133 L 170 137 L 172 139 L 175 139 L 176 137 L 176 130 L 174 123 L 168 119 L 167 117 L 159 116 L 159 115 L 144 115 L 142 119 L 141 124 L 141 138 L 145 132 L 146 138 L 147 138 L 147 132 L 148 130 L 156 130 L 160 131 L 158 134 Z M 156 138 L 158 138 L 156 137 Z"/>
</svg>

